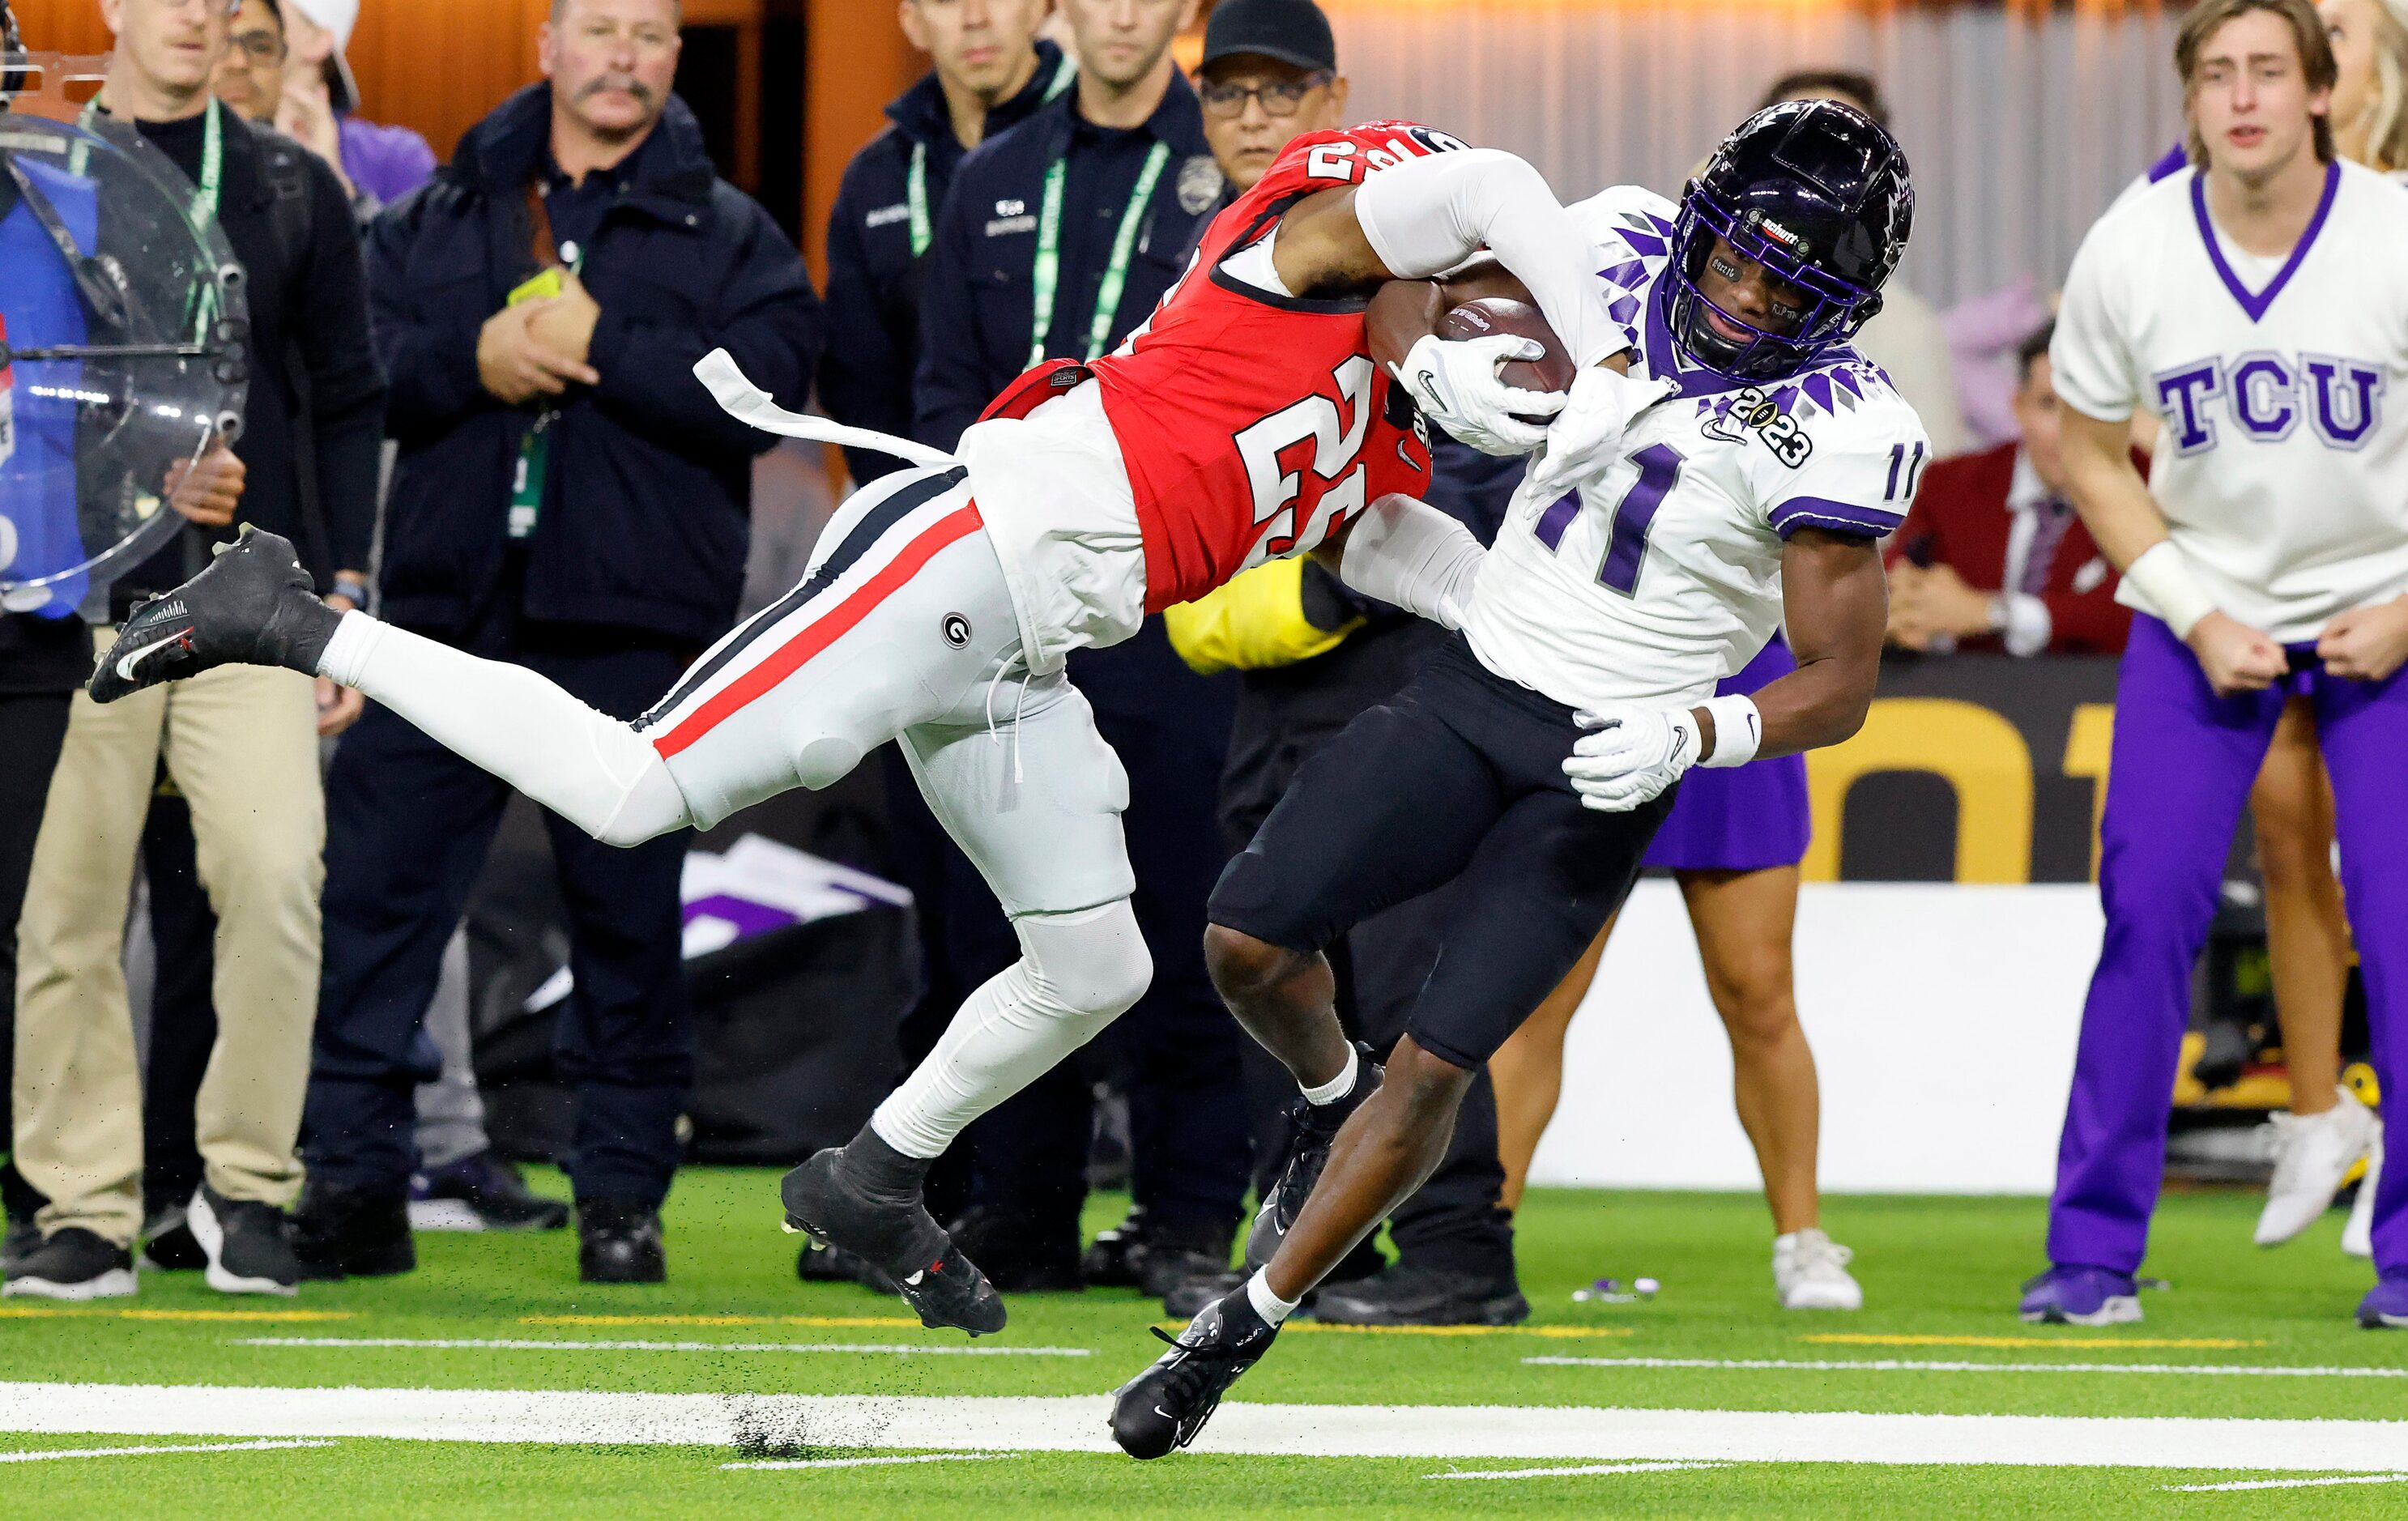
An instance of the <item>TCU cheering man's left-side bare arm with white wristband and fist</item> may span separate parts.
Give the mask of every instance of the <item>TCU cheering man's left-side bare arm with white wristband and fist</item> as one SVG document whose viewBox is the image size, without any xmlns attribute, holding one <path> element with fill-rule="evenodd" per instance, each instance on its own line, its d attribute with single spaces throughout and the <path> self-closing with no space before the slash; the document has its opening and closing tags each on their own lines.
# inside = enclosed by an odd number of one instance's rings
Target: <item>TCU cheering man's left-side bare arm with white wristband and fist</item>
<svg viewBox="0 0 2408 1521">
<path fill-rule="evenodd" d="M 2215 611 L 2215 599 L 2167 532 L 2165 513 L 2131 462 L 2131 419 L 2107 421 L 2066 407 L 2061 450 L 2083 527 L 2174 638 L 2191 645 L 2208 683 L 2230 696 L 2280 681 L 2290 669 L 2283 647 L 2264 631 Z"/>
</svg>

